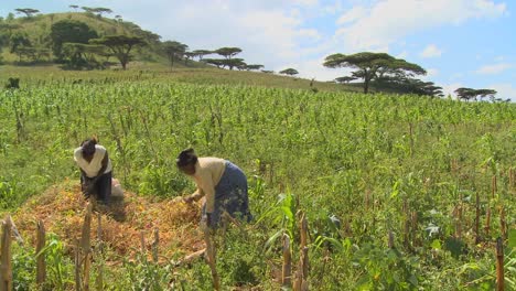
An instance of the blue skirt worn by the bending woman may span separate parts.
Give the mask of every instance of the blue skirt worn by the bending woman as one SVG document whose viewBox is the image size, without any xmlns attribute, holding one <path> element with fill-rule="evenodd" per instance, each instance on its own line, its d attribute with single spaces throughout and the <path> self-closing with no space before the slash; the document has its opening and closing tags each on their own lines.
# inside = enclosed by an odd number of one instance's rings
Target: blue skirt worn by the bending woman
<svg viewBox="0 0 516 291">
<path fill-rule="evenodd" d="M 244 172 L 229 161 L 221 181 L 215 186 L 215 209 L 212 213 L 211 228 L 216 228 L 221 216 L 227 212 L 232 217 L 250 222 L 252 215 L 249 211 L 249 197 L 247 195 L 247 177 Z M 203 217 L 206 215 L 206 204 L 203 205 Z"/>
</svg>

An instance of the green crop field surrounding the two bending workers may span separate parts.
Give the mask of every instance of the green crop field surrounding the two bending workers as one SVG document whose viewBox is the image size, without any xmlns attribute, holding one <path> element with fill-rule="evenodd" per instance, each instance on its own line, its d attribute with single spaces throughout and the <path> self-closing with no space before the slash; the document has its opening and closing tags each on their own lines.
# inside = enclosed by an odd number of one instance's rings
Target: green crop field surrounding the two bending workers
<svg viewBox="0 0 516 291">
<path fill-rule="evenodd" d="M 73 149 L 94 133 L 127 190 L 158 202 L 187 194 L 194 184 L 174 162 L 191 146 L 249 181 L 255 220 L 218 250 L 223 290 L 280 289 L 282 234 L 299 259 L 298 211 L 312 290 L 494 290 L 497 237 L 516 290 L 514 104 L 95 74 L 22 72 L 21 89 L 0 90 L 2 213 L 77 179 Z M 49 240 L 49 290 L 73 289 L 63 239 Z M 35 257 L 14 244 L 15 290 L 35 284 Z M 105 267 L 106 290 L 211 289 L 203 261 L 122 261 Z"/>
</svg>

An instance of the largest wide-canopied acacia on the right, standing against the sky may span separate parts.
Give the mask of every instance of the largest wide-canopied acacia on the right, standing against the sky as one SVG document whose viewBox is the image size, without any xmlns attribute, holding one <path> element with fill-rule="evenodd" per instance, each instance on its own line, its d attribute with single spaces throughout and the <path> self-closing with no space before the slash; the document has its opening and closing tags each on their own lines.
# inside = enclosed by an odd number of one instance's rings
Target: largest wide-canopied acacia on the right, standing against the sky
<svg viewBox="0 0 516 291">
<path fill-rule="evenodd" d="M 396 58 L 386 53 L 363 52 L 352 55 L 332 54 L 326 56 L 323 63 L 325 67 L 351 67 L 356 71 L 353 77 L 364 79 L 364 93 L 369 90 L 373 79 L 384 76 L 413 76 L 424 75 L 427 72 L 417 64 L 408 63 L 405 60 Z"/>
</svg>

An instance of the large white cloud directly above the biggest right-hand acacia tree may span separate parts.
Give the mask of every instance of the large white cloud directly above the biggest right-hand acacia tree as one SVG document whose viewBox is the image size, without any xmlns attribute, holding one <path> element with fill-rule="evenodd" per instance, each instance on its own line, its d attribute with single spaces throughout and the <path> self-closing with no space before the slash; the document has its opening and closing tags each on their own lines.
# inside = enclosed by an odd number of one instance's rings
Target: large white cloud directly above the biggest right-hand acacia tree
<svg viewBox="0 0 516 291">
<path fill-rule="evenodd" d="M 384 0 L 354 8 L 341 17 L 335 36 L 353 51 L 387 47 L 406 35 L 472 18 L 497 18 L 505 3 L 491 0 Z"/>
</svg>

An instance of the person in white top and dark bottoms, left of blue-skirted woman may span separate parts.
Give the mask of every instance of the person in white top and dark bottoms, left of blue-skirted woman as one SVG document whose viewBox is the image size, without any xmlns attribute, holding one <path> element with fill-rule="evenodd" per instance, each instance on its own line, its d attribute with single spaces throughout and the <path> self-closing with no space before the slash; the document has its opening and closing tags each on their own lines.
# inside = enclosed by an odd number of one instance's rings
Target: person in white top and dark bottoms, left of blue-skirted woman
<svg viewBox="0 0 516 291">
<path fill-rule="evenodd" d="M 74 151 L 74 160 L 80 169 L 80 188 L 84 196 L 94 195 L 98 202 L 109 203 L 111 196 L 111 161 L 106 148 L 97 139 L 87 139 Z"/>
</svg>

